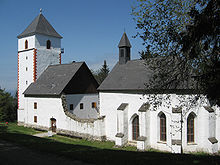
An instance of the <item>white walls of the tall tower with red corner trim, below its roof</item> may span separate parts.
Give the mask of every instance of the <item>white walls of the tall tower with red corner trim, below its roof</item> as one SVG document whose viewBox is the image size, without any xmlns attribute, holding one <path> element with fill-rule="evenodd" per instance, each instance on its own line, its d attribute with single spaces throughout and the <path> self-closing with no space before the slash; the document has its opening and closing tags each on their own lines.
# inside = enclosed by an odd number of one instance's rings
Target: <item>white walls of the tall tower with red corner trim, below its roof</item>
<svg viewBox="0 0 220 165">
<path fill-rule="evenodd" d="M 46 48 L 47 40 L 51 41 L 50 49 Z M 35 34 L 18 39 L 18 121 L 24 121 L 23 92 L 49 65 L 59 64 L 60 58 L 60 38 Z"/>
</svg>

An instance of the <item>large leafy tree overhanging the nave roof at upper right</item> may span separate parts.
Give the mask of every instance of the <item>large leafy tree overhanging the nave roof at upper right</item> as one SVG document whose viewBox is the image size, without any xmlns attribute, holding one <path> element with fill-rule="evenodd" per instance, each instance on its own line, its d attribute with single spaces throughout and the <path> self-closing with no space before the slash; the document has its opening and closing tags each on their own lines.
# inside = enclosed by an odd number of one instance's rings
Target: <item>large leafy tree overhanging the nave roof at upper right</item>
<svg viewBox="0 0 220 165">
<path fill-rule="evenodd" d="M 219 1 L 138 0 L 132 14 L 146 46 L 141 57 L 155 73 L 148 87 L 191 86 L 194 79 L 220 105 Z"/>
</svg>

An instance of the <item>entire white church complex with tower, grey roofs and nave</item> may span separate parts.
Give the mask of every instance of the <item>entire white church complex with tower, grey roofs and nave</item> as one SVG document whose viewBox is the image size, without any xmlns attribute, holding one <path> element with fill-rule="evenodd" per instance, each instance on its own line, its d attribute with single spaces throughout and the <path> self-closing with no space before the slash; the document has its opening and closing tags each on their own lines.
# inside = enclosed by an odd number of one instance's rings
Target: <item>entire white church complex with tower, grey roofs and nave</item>
<svg viewBox="0 0 220 165">
<path fill-rule="evenodd" d="M 191 105 L 190 86 L 148 90 L 153 71 L 131 59 L 126 33 L 100 86 L 85 62 L 61 64 L 61 39 L 42 13 L 18 36 L 18 124 L 142 151 L 219 151 L 220 108 L 205 96 Z"/>
</svg>

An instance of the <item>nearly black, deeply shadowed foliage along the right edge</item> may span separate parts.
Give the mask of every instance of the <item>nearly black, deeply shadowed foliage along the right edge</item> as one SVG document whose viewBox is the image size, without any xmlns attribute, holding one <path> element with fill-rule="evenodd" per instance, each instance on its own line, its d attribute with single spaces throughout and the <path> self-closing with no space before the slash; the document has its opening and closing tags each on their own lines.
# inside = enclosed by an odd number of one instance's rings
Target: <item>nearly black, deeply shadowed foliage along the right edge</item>
<svg viewBox="0 0 220 165">
<path fill-rule="evenodd" d="M 192 61 L 201 90 L 220 105 L 220 2 L 197 4 L 199 9 L 192 7 L 189 13 L 191 24 L 181 34 L 181 51 Z"/>
</svg>

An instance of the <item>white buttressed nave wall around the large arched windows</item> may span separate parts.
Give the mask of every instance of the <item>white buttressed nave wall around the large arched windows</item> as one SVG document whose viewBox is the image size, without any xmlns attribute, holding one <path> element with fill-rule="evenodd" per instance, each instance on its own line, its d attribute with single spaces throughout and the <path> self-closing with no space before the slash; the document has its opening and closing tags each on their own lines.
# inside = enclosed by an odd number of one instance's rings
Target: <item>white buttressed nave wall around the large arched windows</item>
<svg viewBox="0 0 220 165">
<path fill-rule="evenodd" d="M 219 108 L 213 107 L 214 112 L 208 112 L 204 106 L 209 105 L 203 97 L 197 104 L 189 105 L 189 99 L 195 96 L 190 95 L 160 95 L 162 104 L 153 108 L 150 95 L 138 93 L 114 93 L 100 92 L 100 115 L 105 117 L 105 132 L 108 140 L 113 140 L 116 145 L 124 145 L 132 140 L 132 120 L 139 116 L 139 136 L 137 148 L 155 148 L 159 150 L 180 153 L 181 146 L 172 144 L 172 141 L 182 141 L 184 152 L 204 151 L 214 153 L 219 150 L 219 143 L 212 144 L 208 138 L 215 137 L 220 140 L 219 133 Z M 164 99 L 164 98 L 167 99 Z M 122 104 L 128 106 L 124 111 L 117 110 Z M 150 108 L 146 112 L 138 111 L 144 103 L 149 103 Z M 184 105 L 188 106 L 184 107 Z M 181 114 L 173 113 L 172 108 L 182 106 L 183 127 L 181 140 Z M 123 114 L 124 113 L 124 114 Z M 159 114 L 166 116 L 166 141 L 160 141 Z M 194 143 L 187 143 L 187 117 L 190 113 L 195 114 L 194 119 Z M 211 120 L 210 120 L 211 119 Z M 215 125 L 215 126 L 214 126 Z M 123 134 L 121 141 L 116 134 Z M 144 141 L 144 142 L 143 142 Z"/>
</svg>

